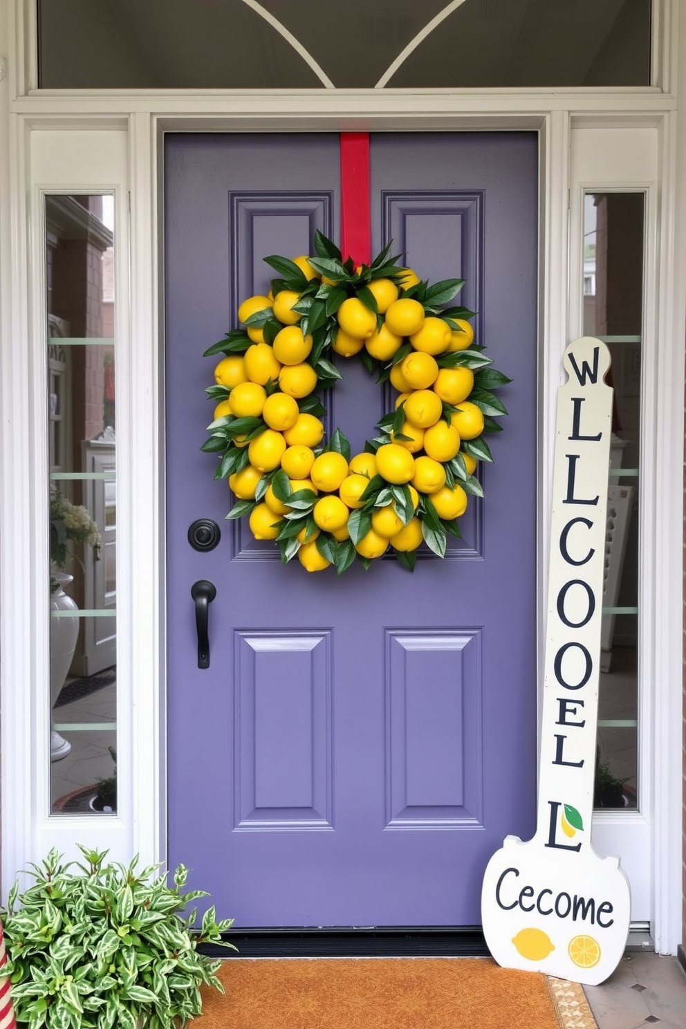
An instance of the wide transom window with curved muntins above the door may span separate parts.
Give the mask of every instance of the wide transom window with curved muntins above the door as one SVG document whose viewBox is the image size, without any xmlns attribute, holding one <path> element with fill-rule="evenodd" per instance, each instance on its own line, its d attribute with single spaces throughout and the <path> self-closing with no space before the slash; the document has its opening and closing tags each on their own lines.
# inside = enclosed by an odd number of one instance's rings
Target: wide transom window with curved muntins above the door
<svg viewBox="0 0 686 1029">
<path fill-rule="evenodd" d="M 447 0 L 261 0 L 260 6 L 262 14 L 242 0 L 38 0 L 40 85 L 371 87 Z M 650 0 L 465 0 L 388 84 L 649 82 Z"/>
</svg>

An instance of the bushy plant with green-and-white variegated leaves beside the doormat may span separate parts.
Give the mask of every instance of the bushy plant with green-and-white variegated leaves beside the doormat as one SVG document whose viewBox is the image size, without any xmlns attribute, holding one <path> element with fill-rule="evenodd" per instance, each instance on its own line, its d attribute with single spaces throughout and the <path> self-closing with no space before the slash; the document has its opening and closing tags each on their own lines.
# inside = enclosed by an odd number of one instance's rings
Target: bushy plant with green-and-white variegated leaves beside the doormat
<svg viewBox="0 0 686 1029">
<path fill-rule="evenodd" d="M 104 864 L 107 851 L 79 847 L 85 864 L 63 863 L 50 850 L 29 875 L 33 885 L 9 893 L 2 924 L 6 973 L 16 1020 L 29 1029 L 181 1029 L 200 1015 L 200 987 L 223 992 L 214 974 L 219 960 L 198 944 L 236 948 L 221 939 L 232 919 L 216 921 L 214 908 L 191 931 L 182 893 L 187 872 L 179 865 L 170 887 L 158 865 L 137 871 Z M 74 871 L 76 870 L 76 871 Z"/>
</svg>

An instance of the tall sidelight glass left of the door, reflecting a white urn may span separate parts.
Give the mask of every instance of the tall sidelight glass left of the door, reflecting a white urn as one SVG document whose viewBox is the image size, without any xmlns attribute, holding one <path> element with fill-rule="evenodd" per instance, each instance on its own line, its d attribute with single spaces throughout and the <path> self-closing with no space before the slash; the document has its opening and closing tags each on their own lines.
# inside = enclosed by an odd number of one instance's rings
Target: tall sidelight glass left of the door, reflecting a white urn
<svg viewBox="0 0 686 1029">
<path fill-rule="evenodd" d="M 114 203 L 45 198 L 51 813 L 116 811 Z"/>
</svg>

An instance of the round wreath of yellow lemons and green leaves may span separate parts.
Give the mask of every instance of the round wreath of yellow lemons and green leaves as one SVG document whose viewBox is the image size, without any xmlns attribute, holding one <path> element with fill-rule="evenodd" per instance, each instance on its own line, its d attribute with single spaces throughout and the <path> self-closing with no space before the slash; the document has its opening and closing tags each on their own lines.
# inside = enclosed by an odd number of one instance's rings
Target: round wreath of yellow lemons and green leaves
<svg viewBox="0 0 686 1029">
<path fill-rule="evenodd" d="M 510 380 L 473 345 L 474 312 L 444 307 L 464 279 L 420 281 L 390 244 L 356 269 L 321 233 L 314 242 L 315 257 L 264 258 L 280 276 L 269 295 L 244 300 L 243 327 L 206 351 L 224 356 L 202 449 L 221 455 L 215 478 L 237 498 L 226 518 L 249 514 L 284 563 L 297 555 L 308 571 L 340 575 L 390 546 L 411 571 L 422 543 L 444 557 L 468 494 L 482 496 L 474 471 L 493 460 L 483 433 L 507 414 L 493 390 Z M 355 456 L 339 428 L 323 442 L 318 393 L 341 378 L 330 351 L 360 354 L 399 393 Z"/>
</svg>

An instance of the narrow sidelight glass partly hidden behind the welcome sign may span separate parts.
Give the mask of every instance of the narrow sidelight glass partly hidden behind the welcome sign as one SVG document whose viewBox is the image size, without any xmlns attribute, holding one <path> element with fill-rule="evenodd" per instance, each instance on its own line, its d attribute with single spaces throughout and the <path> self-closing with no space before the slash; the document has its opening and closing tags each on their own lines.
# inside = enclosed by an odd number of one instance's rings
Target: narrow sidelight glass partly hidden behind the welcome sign
<svg viewBox="0 0 686 1029">
<path fill-rule="evenodd" d="M 644 210 L 641 192 L 584 202 L 583 330 L 610 348 L 614 389 L 595 804 L 637 807 L 639 467 Z"/>
</svg>

